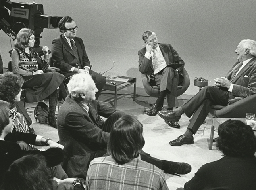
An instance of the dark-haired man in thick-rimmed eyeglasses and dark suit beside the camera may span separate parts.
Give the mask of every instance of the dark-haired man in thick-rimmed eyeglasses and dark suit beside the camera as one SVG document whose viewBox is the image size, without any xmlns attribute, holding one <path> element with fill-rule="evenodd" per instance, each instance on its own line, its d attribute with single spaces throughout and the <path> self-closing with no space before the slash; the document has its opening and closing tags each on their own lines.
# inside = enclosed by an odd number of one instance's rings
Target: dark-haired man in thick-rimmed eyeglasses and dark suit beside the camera
<svg viewBox="0 0 256 190">
<path fill-rule="evenodd" d="M 52 41 L 54 67 L 61 69 L 61 73 L 66 76 L 66 83 L 69 82 L 70 76 L 76 73 L 89 73 L 99 90 L 96 93 L 96 99 L 98 99 L 106 78 L 91 70 L 83 40 L 76 37 L 78 27 L 75 21 L 65 16 L 59 21 L 58 27 L 62 34 Z"/>
</svg>

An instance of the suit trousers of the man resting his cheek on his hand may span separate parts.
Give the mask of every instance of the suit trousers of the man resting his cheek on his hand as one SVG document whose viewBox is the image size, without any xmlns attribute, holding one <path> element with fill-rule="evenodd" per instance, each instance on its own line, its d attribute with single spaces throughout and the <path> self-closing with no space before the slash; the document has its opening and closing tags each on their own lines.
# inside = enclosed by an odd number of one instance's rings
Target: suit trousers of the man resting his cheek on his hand
<svg viewBox="0 0 256 190">
<path fill-rule="evenodd" d="M 160 86 L 160 92 L 168 89 L 170 91 L 168 98 L 169 108 L 175 107 L 175 97 L 177 97 L 177 88 L 179 84 L 178 72 L 171 68 L 166 67 L 158 74 L 154 74 L 155 83 L 154 86 Z"/>
</svg>

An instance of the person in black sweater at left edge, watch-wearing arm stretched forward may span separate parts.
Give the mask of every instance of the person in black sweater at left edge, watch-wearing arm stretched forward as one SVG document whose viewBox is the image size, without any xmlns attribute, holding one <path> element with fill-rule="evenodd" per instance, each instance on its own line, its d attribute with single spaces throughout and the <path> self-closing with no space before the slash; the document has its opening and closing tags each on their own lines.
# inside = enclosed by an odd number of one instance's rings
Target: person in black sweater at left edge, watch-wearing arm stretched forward
<svg viewBox="0 0 256 190">
<path fill-rule="evenodd" d="M 10 116 L 10 103 L 0 100 L 0 185 L 2 184 L 4 173 L 8 170 L 13 161 L 26 154 L 41 154 L 45 156 L 49 167 L 54 167 L 53 172 L 60 179 L 67 178 L 59 164 L 63 161 L 64 146 L 39 135 L 31 133 L 12 132 L 13 124 Z M 24 141 L 34 145 L 48 145 L 50 148 L 46 151 L 39 150 L 21 150 L 17 141 Z"/>
</svg>

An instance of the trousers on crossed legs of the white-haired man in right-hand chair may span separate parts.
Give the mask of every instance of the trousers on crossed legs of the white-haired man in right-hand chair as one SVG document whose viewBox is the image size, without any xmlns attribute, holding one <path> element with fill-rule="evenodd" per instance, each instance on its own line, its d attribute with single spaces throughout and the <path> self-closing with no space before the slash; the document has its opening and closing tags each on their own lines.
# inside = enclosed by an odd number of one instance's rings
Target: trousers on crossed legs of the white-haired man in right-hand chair
<svg viewBox="0 0 256 190">
<path fill-rule="evenodd" d="M 184 113 L 190 118 L 193 115 L 187 129 L 191 129 L 194 134 L 204 122 L 210 107 L 212 105 L 227 106 L 229 103 L 229 92 L 216 88 L 214 86 L 206 86 L 192 97 L 187 103 L 181 106 Z"/>
</svg>

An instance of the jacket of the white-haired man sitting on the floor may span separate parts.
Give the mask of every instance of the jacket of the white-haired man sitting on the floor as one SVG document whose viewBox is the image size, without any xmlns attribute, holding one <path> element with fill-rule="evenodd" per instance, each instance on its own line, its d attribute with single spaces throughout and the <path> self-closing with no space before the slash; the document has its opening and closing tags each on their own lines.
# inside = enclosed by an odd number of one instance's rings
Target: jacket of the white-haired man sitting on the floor
<svg viewBox="0 0 256 190">
<path fill-rule="evenodd" d="M 100 116 L 108 118 L 117 110 L 99 101 L 90 102 L 90 106 L 91 117 L 79 101 L 68 95 L 58 113 L 59 143 L 67 156 L 63 169 L 69 177 L 85 179 L 91 156 L 107 148 L 110 134 L 100 129 Z"/>
</svg>

